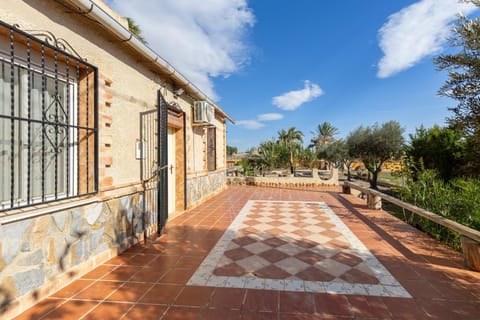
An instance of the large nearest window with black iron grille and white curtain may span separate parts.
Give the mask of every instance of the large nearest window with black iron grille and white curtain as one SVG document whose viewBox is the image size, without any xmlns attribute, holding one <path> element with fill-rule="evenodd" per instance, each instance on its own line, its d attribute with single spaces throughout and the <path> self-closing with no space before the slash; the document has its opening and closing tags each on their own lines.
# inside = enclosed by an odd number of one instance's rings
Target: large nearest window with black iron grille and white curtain
<svg viewBox="0 0 480 320">
<path fill-rule="evenodd" d="M 96 192 L 96 68 L 0 28 L 0 211 Z"/>
</svg>

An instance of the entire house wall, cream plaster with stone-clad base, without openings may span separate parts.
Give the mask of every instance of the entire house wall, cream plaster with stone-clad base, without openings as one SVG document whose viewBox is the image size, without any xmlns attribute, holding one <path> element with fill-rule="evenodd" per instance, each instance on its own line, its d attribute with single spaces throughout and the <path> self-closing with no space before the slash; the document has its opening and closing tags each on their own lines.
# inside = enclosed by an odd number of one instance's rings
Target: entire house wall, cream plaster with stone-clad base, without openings
<svg viewBox="0 0 480 320">
<path fill-rule="evenodd" d="M 225 188 L 226 124 L 217 114 L 217 170 L 208 172 L 205 128 L 191 125 L 195 99 L 187 94 L 175 97 L 172 81 L 122 41 L 51 0 L 4 1 L 0 20 L 67 40 L 99 72 L 98 194 L 0 213 L 0 306 L 8 306 L 0 312 L 14 315 L 156 232 L 154 204 L 142 193 L 135 143 L 139 114 L 156 108 L 159 88 L 186 118 L 186 186 L 177 175 L 177 211 Z M 183 129 L 177 130 L 181 172 L 183 142 Z"/>
</svg>

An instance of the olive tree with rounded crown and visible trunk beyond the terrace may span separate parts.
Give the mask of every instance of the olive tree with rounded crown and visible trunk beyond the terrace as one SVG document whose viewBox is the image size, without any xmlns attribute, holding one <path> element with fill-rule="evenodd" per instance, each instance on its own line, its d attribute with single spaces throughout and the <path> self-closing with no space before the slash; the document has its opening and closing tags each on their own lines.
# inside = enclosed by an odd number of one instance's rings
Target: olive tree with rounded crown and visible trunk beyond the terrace
<svg viewBox="0 0 480 320">
<path fill-rule="evenodd" d="M 399 158 L 403 148 L 403 129 L 397 121 L 369 127 L 360 126 L 347 138 L 349 154 L 361 160 L 370 172 L 370 187 L 377 188 L 378 174 L 385 161 Z"/>
</svg>

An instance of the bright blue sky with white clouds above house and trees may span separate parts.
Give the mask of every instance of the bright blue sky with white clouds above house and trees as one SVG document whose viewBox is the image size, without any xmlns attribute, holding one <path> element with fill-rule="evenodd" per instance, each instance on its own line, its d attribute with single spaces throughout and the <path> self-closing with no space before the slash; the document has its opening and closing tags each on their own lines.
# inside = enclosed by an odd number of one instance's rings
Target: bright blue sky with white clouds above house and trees
<svg viewBox="0 0 480 320">
<path fill-rule="evenodd" d="M 227 143 L 246 150 L 295 126 L 308 144 L 324 121 L 339 138 L 397 120 L 406 133 L 444 124 L 455 102 L 432 57 L 458 0 L 112 0 L 149 45 L 237 122 Z M 127 14 L 128 13 L 128 14 Z"/>
</svg>

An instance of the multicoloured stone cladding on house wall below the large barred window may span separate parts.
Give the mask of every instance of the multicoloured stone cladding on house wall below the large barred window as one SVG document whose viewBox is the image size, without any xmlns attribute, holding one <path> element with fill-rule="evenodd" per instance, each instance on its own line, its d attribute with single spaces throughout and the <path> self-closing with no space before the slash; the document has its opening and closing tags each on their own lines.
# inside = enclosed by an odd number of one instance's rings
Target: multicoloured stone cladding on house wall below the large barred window
<svg viewBox="0 0 480 320">
<path fill-rule="evenodd" d="M 153 233 L 149 207 L 136 193 L 0 225 L 0 314 L 25 310 Z"/>
</svg>

